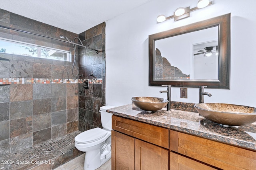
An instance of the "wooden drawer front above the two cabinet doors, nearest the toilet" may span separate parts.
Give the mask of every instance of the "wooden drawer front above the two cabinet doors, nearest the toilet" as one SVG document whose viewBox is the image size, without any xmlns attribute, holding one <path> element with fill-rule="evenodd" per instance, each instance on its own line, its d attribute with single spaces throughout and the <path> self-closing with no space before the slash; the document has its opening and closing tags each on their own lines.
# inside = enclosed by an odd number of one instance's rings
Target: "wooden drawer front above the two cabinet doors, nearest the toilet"
<svg viewBox="0 0 256 170">
<path fill-rule="evenodd" d="M 160 147 L 169 148 L 168 129 L 118 117 L 116 115 L 112 116 L 112 129 Z"/>
</svg>

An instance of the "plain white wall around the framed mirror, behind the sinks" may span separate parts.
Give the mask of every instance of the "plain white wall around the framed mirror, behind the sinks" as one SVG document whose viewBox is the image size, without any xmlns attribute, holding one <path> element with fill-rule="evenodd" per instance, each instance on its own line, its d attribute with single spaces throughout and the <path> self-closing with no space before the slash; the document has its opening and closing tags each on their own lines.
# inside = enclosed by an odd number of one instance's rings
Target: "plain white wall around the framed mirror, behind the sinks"
<svg viewBox="0 0 256 170">
<path fill-rule="evenodd" d="M 191 12 L 189 18 L 156 22 L 160 14 L 171 16 L 176 8 L 193 8 L 197 2 L 150 0 L 106 21 L 106 104 L 131 104 L 132 96 L 166 98 L 166 93 L 159 93 L 164 87 L 148 86 L 148 35 L 231 13 L 230 90 L 206 89 L 212 97 L 204 100 L 256 107 L 256 55 L 251 53 L 256 47 L 256 1 L 214 0 L 213 5 Z M 188 88 L 188 98 L 182 99 L 180 88 L 173 87 L 171 100 L 198 103 L 198 88 Z"/>
</svg>

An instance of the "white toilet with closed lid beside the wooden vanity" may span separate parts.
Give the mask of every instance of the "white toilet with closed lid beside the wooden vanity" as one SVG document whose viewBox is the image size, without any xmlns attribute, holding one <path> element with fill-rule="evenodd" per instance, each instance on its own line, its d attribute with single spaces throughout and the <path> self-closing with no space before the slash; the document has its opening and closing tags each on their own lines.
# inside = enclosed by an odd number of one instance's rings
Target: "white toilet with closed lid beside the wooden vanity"
<svg viewBox="0 0 256 170">
<path fill-rule="evenodd" d="M 115 106 L 100 107 L 103 129 L 96 127 L 84 131 L 75 137 L 76 149 L 86 152 L 84 170 L 95 170 L 111 158 L 112 114 L 106 110 Z"/>
</svg>

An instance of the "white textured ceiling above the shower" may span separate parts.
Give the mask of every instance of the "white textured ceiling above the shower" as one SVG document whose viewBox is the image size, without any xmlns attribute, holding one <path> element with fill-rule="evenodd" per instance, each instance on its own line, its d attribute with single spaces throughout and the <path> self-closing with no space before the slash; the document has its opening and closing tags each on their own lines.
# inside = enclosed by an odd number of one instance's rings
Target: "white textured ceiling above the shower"
<svg viewBox="0 0 256 170">
<path fill-rule="evenodd" d="M 0 8 L 82 33 L 150 0 L 1 0 Z"/>
</svg>

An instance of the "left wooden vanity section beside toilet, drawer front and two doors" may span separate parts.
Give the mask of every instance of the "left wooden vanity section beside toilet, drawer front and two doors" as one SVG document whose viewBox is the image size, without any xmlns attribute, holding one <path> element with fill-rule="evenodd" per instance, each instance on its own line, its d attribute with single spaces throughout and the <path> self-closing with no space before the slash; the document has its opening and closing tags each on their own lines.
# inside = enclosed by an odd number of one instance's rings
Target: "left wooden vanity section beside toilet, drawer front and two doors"
<svg viewBox="0 0 256 170">
<path fill-rule="evenodd" d="M 112 129 L 112 170 L 168 170 L 168 129 L 115 115 Z"/>
</svg>

